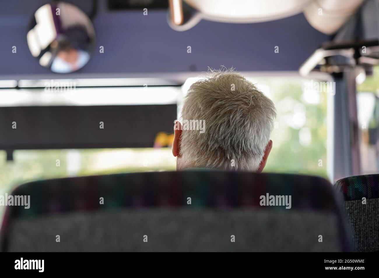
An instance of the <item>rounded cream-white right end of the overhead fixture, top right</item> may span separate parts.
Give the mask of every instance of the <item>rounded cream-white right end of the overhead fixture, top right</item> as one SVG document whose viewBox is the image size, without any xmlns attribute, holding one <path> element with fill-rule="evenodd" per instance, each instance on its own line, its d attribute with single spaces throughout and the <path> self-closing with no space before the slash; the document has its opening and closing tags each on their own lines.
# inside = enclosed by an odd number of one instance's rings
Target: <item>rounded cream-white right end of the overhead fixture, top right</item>
<svg viewBox="0 0 379 278">
<path fill-rule="evenodd" d="M 304 9 L 304 16 L 316 30 L 334 34 L 365 0 L 315 0 Z"/>
</svg>

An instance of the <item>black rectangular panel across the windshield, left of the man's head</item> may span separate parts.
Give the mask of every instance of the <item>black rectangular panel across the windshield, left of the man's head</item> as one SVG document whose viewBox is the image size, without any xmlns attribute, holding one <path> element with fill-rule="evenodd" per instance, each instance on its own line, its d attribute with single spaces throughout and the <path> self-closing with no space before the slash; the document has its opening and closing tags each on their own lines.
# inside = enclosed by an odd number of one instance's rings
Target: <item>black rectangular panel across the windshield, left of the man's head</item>
<svg viewBox="0 0 379 278">
<path fill-rule="evenodd" d="M 0 149 L 152 147 L 176 117 L 176 104 L 0 107 Z"/>
</svg>

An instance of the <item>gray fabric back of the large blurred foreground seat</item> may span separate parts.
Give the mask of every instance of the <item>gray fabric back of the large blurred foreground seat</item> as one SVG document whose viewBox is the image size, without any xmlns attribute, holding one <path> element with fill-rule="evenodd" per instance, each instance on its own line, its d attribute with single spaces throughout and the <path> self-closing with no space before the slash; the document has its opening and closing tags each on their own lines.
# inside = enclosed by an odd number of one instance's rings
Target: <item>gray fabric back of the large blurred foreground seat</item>
<svg viewBox="0 0 379 278">
<path fill-rule="evenodd" d="M 123 210 L 20 219 L 15 252 L 338 252 L 334 214 L 265 210 Z M 56 236 L 60 242 L 56 242 Z M 144 236 L 147 242 L 144 242 Z M 232 235 L 235 242 L 232 242 Z M 323 236 L 323 242 L 318 236 Z"/>
</svg>

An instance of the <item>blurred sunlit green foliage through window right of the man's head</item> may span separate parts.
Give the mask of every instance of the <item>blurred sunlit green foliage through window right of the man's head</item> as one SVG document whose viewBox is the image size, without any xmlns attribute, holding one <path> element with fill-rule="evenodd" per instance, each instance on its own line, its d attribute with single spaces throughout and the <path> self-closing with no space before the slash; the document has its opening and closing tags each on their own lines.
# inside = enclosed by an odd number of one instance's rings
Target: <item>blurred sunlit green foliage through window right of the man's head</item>
<svg viewBox="0 0 379 278">
<path fill-rule="evenodd" d="M 302 81 L 299 79 L 286 79 L 281 81 L 269 79 L 265 81 L 265 83 L 269 85 L 271 92 L 274 90 L 273 101 L 278 110 L 277 121 L 279 127 L 278 129 L 274 128 L 271 136 L 273 149 L 268 157 L 264 171 L 327 177 L 326 93 L 320 93 L 320 103 L 309 104 L 302 98 Z M 295 106 L 302 105 L 305 108 L 306 118 L 301 128 L 291 127 L 283 121 L 283 119 L 293 118 L 295 116 L 295 111 L 286 111 L 285 107 L 281 107 L 281 104 L 285 105 L 289 102 L 297 103 Z M 308 145 L 301 144 L 299 139 L 299 133 L 303 128 L 310 131 L 311 141 Z M 319 166 L 320 160 L 322 160 L 322 166 Z"/>
</svg>

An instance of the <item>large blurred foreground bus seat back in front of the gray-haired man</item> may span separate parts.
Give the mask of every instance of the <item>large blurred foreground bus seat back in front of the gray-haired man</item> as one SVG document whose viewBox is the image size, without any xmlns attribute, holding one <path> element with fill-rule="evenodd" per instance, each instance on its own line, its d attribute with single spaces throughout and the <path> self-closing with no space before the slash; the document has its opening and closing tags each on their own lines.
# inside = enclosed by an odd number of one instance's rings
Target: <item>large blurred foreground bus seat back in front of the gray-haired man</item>
<svg viewBox="0 0 379 278">
<path fill-rule="evenodd" d="M 319 177 L 144 172 L 35 181 L 12 194 L 30 195 L 30 208 L 6 208 L 2 251 L 349 251 Z M 291 196 L 291 208 L 261 196 Z"/>
</svg>

